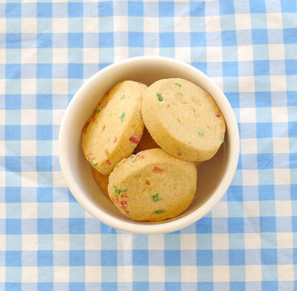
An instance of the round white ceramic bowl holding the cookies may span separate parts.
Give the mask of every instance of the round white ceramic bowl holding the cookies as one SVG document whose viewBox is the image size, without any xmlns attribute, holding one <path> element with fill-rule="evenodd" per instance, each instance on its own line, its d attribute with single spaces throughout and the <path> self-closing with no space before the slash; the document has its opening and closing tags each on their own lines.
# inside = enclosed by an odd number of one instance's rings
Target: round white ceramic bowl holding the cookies
<svg viewBox="0 0 297 291">
<path fill-rule="evenodd" d="M 166 78 L 182 78 L 206 90 L 216 101 L 226 121 L 225 142 L 211 160 L 198 167 L 198 187 L 190 207 L 174 219 L 137 222 L 122 215 L 95 182 L 85 160 L 82 126 L 104 95 L 116 83 L 132 80 L 150 85 Z M 82 207 L 103 223 L 134 233 L 165 233 L 196 222 L 209 212 L 227 191 L 239 155 L 239 134 L 231 105 L 218 86 L 191 65 L 165 57 L 136 57 L 109 65 L 82 85 L 64 115 L 59 134 L 60 164 L 68 187 Z"/>
</svg>

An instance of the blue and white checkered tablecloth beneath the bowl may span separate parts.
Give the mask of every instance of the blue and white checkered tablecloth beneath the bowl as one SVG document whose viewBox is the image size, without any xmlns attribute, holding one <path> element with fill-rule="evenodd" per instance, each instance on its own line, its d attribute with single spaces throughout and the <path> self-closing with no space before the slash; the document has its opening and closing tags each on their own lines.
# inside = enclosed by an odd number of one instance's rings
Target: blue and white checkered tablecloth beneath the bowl
<svg viewBox="0 0 297 291">
<path fill-rule="evenodd" d="M 162 55 L 224 91 L 241 154 L 197 223 L 133 235 L 66 186 L 68 102 L 106 65 Z M 297 290 L 295 0 L 0 0 L 0 290 Z"/>
</svg>

